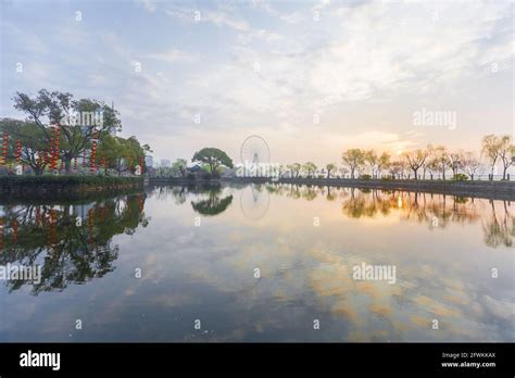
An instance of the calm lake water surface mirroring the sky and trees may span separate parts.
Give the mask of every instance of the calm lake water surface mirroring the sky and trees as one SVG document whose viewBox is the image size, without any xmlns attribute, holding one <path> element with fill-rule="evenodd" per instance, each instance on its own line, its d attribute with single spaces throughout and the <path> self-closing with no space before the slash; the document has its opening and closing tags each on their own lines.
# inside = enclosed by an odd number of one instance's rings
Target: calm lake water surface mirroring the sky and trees
<svg viewBox="0 0 515 378">
<path fill-rule="evenodd" d="M 0 341 L 515 341 L 510 202 L 247 185 L 0 205 L 0 265 L 41 267 L 0 281 Z"/>
</svg>

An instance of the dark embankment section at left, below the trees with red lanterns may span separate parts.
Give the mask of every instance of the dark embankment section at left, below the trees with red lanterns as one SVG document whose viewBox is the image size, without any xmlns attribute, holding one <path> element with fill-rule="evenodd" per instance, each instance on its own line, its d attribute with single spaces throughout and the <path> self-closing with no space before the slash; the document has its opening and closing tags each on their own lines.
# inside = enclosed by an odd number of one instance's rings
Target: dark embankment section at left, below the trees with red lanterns
<svg viewBox="0 0 515 378">
<path fill-rule="evenodd" d="M 143 177 L 115 176 L 1 176 L 2 198 L 80 198 L 99 192 L 143 188 Z"/>
</svg>

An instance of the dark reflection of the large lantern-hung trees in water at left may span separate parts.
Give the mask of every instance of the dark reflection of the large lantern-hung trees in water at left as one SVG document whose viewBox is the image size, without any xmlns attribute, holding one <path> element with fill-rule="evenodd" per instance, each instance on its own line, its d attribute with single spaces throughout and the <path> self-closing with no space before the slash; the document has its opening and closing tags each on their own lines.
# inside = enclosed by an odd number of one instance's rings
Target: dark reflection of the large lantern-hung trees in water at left
<svg viewBox="0 0 515 378">
<path fill-rule="evenodd" d="M 145 196 L 126 196 L 87 204 L 4 207 L 0 264 L 41 266 L 39 284 L 5 281 L 10 291 L 32 285 L 32 292 L 64 290 L 114 269 L 118 247 L 112 238 L 147 226 Z"/>
</svg>

